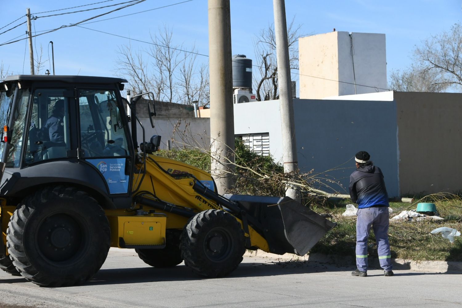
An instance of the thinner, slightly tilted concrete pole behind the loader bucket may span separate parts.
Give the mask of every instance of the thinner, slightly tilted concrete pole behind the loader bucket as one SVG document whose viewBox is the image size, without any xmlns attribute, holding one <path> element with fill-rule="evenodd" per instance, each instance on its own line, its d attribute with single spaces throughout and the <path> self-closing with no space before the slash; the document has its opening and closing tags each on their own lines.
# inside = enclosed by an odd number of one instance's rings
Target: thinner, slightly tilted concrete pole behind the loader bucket
<svg viewBox="0 0 462 308">
<path fill-rule="evenodd" d="M 293 121 L 292 83 L 290 79 L 285 1 L 273 0 L 273 9 L 281 109 L 282 159 L 284 161 L 284 172 L 293 172 L 298 170 L 298 162 L 295 125 Z M 297 191 L 290 187 L 286 191 L 286 196 L 296 200 L 299 199 Z"/>
</svg>

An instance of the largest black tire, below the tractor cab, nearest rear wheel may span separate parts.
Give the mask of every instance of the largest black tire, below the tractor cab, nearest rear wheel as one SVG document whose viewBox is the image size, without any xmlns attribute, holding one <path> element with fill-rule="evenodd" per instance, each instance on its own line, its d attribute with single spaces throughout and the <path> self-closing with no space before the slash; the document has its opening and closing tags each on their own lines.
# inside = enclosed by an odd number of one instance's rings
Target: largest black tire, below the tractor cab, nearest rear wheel
<svg viewBox="0 0 462 308">
<path fill-rule="evenodd" d="M 110 246 L 109 222 L 97 201 L 74 187 L 48 187 L 26 197 L 6 231 L 20 274 L 41 286 L 90 279 Z"/>
</svg>

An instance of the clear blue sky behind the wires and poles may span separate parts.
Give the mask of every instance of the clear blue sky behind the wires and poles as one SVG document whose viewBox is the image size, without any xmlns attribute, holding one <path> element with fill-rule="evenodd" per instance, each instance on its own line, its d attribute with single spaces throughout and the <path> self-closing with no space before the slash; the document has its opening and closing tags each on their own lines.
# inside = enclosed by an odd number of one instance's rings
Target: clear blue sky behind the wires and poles
<svg viewBox="0 0 462 308">
<path fill-rule="evenodd" d="M 106 6 L 124 2 L 114 0 L 95 6 L 84 6 L 67 11 L 37 14 L 71 6 L 100 2 L 102 0 L 15 0 L 2 5 L 0 27 L 25 15 L 26 8 L 34 16 L 45 16 L 60 12 L 70 12 L 91 7 Z M 97 21 L 121 15 L 150 10 L 181 2 L 182 0 L 146 0 L 129 8 L 93 19 Z M 4 3 L 6 4 L 6 3 Z M 32 31 L 39 32 L 79 22 L 85 18 L 108 12 L 108 7 L 89 12 L 79 12 L 62 16 L 37 18 L 32 22 Z M 332 31 L 384 33 L 387 45 L 387 71 L 403 69 L 411 64 L 411 54 L 415 45 L 423 39 L 446 31 L 461 20 L 461 0 L 286 0 L 287 19 L 295 16 L 295 24 L 302 24 L 301 32 L 320 34 Z M 0 30 L 3 32 L 25 17 Z M 245 54 L 255 60 L 253 39 L 255 34 L 273 23 L 273 1 L 271 0 L 231 0 L 232 53 Z M 207 0 L 192 0 L 175 6 L 142 12 L 131 16 L 114 18 L 83 25 L 98 31 L 150 41 L 150 33 L 167 25 L 173 31 L 173 41 L 182 44 L 183 49 L 194 45 L 201 54 L 208 54 Z M 26 25 L 0 35 L 0 44 L 14 37 L 25 37 Z M 18 38 L 21 38 L 18 37 Z M 79 27 L 64 28 L 34 39 L 34 52 L 43 47 L 43 60 L 51 58 L 49 41 L 54 42 L 56 74 L 116 75 L 118 47 L 130 43 L 134 50 L 149 48 L 146 43 L 129 41 Z M 27 40 L 0 46 L 0 61 L 14 74 L 29 74 L 29 49 Z M 39 51 L 40 53 L 40 51 Z M 25 60 L 24 60 L 25 54 Z M 36 53 L 37 54 L 37 53 Z M 207 61 L 207 57 L 198 56 Z M 50 68 L 49 62 L 45 68 Z"/>
</svg>

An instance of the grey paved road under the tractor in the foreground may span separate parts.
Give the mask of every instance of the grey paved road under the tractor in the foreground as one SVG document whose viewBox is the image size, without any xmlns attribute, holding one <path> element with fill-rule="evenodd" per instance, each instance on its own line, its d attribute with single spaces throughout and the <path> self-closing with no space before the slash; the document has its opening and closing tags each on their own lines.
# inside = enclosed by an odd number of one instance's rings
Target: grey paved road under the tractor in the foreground
<svg viewBox="0 0 462 308">
<path fill-rule="evenodd" d="M 231 276 L 204 279 L 186 266 L 156 269 L 134 250 L 111 248 L 85 285 L 43 288 L 0 273 L 0 307 L 461 307 L 461 274 L 395 271 L 352 277 L 352 268 L 245 257 Z M 17 306 L 16 306 L 17 305 Z"/>
</svg>

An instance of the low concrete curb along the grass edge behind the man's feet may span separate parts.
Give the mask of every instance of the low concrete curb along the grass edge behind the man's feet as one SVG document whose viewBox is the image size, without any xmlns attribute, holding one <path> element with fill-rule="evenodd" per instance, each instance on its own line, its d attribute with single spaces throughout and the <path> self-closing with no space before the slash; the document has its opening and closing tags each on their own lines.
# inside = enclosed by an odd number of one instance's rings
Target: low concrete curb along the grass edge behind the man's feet
<svg viewBox="0 0 462 308">
<path fill-rule="evenodd" d="M 329 263 L 338 266 L 356 266 L 356 259 L 353 256 L 327 255 L 322 253 L 312 253 L 310 255 L 298 256 L 293 253 L 278 255 L 266 253 L 262 250 L 246 251 L 245 257 L 276 259 L 278 261 L 311 261 L 317 263 Z M 394 270 L 410 270 L 431 273 L 462 273 L 462 262 L 455 261 L 414 261 L 408 259 L 392 259 Z M 370 257 L 369 266 L 380 269 L 378 258 Z"/>
</svg>

